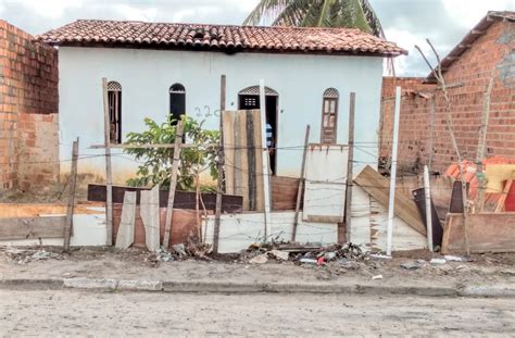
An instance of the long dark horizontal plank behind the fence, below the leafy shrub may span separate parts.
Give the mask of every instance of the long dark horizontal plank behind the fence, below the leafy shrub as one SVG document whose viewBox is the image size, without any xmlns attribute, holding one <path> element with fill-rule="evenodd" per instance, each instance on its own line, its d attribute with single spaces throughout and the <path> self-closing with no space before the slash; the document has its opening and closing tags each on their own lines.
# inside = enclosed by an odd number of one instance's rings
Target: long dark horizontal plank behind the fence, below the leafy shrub
<svg viewBox="0 0 515 338">
<path fill-rule="evenodd" d="M 149 190 L 148 188 L 134 188 L 113 186 L 113 203 L 123 203 L 125 191 L 136 191 L 136 204 L 140 203 L 140 192 Z M 174 209 L 193 210 L 196 205 L 196 192 L 193 191 L 175 191 Z M 202 200 L 208 211 L 214 211 L 216 206 L 215 193 L 202 193 Z M 88 201 L 105 202 L 105 186 L 88 185 Z M 241 196 L 223 195 L 222 212 L 224 213 L 241 213 L 242 211 Z M 168 202 L 168 190 L 160 190 L 160 206 L 166 208 Z"/>
</svg>

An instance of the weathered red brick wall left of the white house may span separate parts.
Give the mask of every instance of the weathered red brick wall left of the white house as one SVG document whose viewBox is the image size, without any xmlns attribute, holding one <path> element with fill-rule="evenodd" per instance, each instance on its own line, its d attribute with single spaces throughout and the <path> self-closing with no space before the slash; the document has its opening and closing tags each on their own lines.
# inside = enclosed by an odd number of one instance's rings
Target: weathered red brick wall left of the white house
<svg viewBox="0 0 515 338">
<path fill-rule="evenodd" d="M 0 21 L 0 189 L 59 175 L 58 52 Z"/>
</svg>

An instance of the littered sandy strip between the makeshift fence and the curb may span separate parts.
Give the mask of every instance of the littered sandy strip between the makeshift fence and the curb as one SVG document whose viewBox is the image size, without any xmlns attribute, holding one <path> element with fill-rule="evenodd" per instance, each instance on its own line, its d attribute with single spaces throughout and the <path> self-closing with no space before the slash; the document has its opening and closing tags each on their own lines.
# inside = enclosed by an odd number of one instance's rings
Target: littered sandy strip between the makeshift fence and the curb
<svg viewBox="0 0 515 338">
<path fill-rule="evenodd" d="M 360 262 L 357 270 L 329 266 L 299 265 L 293 262 L 269 260 L 265 264 L 253 265 L 239 259 L 224 258 L 224 261 L 185 260 L 155 264 L 151 255 L 141 250 L 116 251 L 113 249 L 80 249 L 71 255 L 54 251 L 52 259 L 20 263 L 0 249 L 0 278 L 115 278 L 115 279 L 160 279 L 237 283 L 344 283 L 379 285 L 491 285 L 515 283 L 515 254 L 475 255 L 474 262 L 448 262 L 431 265 L 426 252 L 404 253 L 392 261 Z M 426 259 L 426 263 L 414 271 L 401 267 L 414 258 Z M 372 280 L 382 275 L 382 279 Z"/>
</svg>

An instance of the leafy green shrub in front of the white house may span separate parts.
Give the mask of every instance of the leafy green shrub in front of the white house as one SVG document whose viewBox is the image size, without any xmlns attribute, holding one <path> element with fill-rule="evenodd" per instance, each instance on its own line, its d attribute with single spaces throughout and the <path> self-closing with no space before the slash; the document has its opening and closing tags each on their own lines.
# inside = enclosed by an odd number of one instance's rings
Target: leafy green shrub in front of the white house
<svg viewBox="0 0 515 338">
<path fill-rule="evenodd" d="M 184 135 L 186 139 L 197 147 L 183 148 L 180 151 L 180 166 L 177 177 L 177 188 L 194 190 L 197 174 L 209 171 L 211 177 L 216 179 L 216 148 L 212 145 L 218 142 L 218 130 L 202 129 L 202 123 L 183 116 Z M 163 145 L 175 142 L 175 124 L 167 121 L 158 124 L 151 118 L 145 118 L 147 130 L 127 134 L 127 145 Z M 125 149 L 124 152 L 141 161 L 136 172 L 137 177 L 127 180 L 131 187 L 154 186 L 169 187 L 169 172 L 172 167 L 173 148 L 153 149 Z"/>
</svg>

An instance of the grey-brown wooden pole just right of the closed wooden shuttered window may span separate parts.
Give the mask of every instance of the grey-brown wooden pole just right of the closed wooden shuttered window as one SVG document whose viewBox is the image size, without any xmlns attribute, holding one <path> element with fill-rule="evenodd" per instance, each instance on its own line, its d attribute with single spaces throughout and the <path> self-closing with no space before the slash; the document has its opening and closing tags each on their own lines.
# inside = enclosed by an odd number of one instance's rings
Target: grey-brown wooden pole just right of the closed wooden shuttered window
<svg viewBox="0 0 515 338">
<path fill-rule="evenodd" d="M 354 179 L 354 116 L 356 108 L 356 95 L 351 92 L 349 109 L 349 159 L 347 162 L 347 187 L 346 187 L 346 239 L 351 241 L 351 209 L 352 209 L 352 187 Z"/>
</svg>

